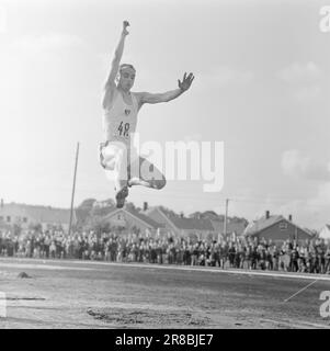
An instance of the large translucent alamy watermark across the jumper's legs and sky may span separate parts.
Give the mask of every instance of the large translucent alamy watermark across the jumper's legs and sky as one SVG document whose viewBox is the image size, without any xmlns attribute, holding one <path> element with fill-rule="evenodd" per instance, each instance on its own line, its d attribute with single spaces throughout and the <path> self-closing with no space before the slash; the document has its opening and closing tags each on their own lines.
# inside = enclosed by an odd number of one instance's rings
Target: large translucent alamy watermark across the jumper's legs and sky
<svg viewBox="0 0 330 351">
<path fill-rule="evenodd" d="M 120 135 L 128 136 L 129 123 L 123 122 L 118 126 Z M 132 174 L 139 174 L 146 181 L 162 180 L 162 174 L 167 180 L 204 180 L 204 192 L 220 192 L 224 186 L 224 141 L 159 141 L 149 140 L 139 143 L 139 134 L 132 133 L 129 145 L 121 141 L 117 144 L 123 152 L 122 169 L 127 169 L 127 160 L 134 160 L 137 156 L 143 156 L 146 160 L 132 162 L 129 165 Z M 127 155 L 129 152 L 129 155 Z M 106 166 L 107 157 L 103 157 L 103 167 Z M 110 152 L 109 159 L 112 159 Z M 150 168 L 150 162 L 157 163 Z M 126 163 L 126 165 L 125 165 Z M 127 177 L 122 174 L 122 177 Z"/>
</svg>

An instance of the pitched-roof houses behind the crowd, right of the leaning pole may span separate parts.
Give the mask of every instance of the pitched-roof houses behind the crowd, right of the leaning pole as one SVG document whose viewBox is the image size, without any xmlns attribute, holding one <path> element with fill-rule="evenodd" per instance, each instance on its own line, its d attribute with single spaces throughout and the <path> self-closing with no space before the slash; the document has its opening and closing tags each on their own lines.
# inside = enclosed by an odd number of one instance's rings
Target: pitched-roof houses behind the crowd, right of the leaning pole
<svg viewBox="0 0 330 351">
<path fill-rule="evenodd" d="M 136 226 L 134 220 L 136 217 L 144 222 L 144 230 L 170 231 L 178 237 L 197 237 L 198 239 L 216 240 L 219 236 L 251 236 L 259 240 L 271 239 L 274 242 L 282 242 L 287 239 L 306 241 L 316 236 L 316 233 L 294 223 L 292 215 L 286 218 L 283 215 L 271 215 L 269 211 L 261 218 L 250 222 L 248 226 L 244 226 L 242 222 L 228 220 L 226 233 L 224 220 L 171 216 L 159 206 L 150 207 L 143 213 L 125 208 L 113 210 L 105 218 L 113 225 L 116 225 L 116 220 L 121 218 L 121 225 L 132 228 Z M 326 225 L 319 233 L 319 237 L 330 239 L 329 229 L 330 226 Z"/>
</svg>

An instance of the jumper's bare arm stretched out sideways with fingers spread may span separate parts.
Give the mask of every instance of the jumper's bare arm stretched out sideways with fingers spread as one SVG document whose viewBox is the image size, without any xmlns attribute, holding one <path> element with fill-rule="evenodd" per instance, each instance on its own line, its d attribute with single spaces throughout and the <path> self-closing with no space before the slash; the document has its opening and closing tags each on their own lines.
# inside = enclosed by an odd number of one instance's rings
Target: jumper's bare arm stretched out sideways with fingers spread
<svg viewBox="0 0 330 351">
<path fill-rule="evenodd" d="M 193 73 L 190 73 L 186 77 L 186 72 L 185 72 L 182 81 L 178 80 L 179 88 L 175 90 L 170 90 L 163 93 L 149 93 L 149 92 L 136 93 L 138 98 L 139 106 L 141 106 L 144 103 L 160 103 L 160 102 L 168 102 L 173 99 L 177 99 L 191 87 L 194 78 L 195 77 Z"/>
</svg>

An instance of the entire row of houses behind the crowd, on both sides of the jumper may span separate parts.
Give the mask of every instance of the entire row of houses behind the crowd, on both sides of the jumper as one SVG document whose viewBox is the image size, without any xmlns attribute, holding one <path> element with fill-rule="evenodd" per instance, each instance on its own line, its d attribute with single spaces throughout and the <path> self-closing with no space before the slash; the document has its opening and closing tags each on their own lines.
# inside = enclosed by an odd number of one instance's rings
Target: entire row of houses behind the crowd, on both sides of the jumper
<svg viewBox="0 0 330 351">
<path fill-rule="evenodd" d="M 60 228 L 69 229 L 70 211 L 54 208 L 50 206 L 32 206 L 25 204 L 4 204 L 0 206 L 0 228 L 20 225 L 29 229 L 34 225 L 41 225 L 43 230 Z M 246 226 L 242 222 L 228 220 L 225 233 L 224 220 L 213 220 L 205 218 L 186 218 L 183 215 L 171 215 L 160 206 L 148 207 L 145 203 L 143 211 L 132 207 L 112 207 L 103 217 L 103 222 L 110 227 L 122 228 L 123 233 L 138 230 L 140 234 L 171 234 L 177 237 L 191 237 L 197 239 L 218 239 L 219 236 L 252 236 L 259 239 L 265 238 L 273 241 L 286 239 L 305 241 L 312 239 L 315 233 L 303 228 L 293 222 L 289 215 L 287 218 L 282 215 L 271 215 L 269 211 L 264 216 L 252 220 Z M 72 224 L 77 223 L 76 212 L 72 213 Z M 319 236 L 330 239 L 330 225 L 326 225 Z"/>
</svg>

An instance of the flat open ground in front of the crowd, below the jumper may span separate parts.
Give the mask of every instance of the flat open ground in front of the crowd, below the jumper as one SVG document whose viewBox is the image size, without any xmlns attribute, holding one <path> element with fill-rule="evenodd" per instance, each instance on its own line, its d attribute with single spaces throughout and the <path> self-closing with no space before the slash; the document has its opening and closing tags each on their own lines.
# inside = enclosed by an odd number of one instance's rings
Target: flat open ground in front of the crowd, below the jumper
<svg viewBox="0 0 330 351">
<path fill-rule="evenodd" d="M 329 275 L 259 273 L 2 258 L 0 328 L 330 328 Z"/>
</svg>

